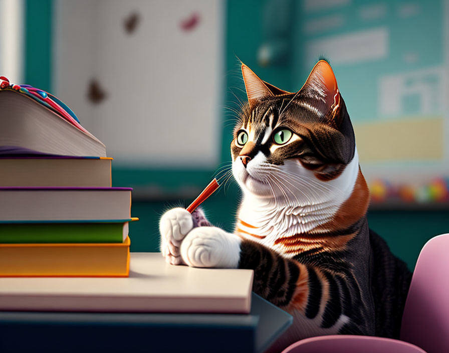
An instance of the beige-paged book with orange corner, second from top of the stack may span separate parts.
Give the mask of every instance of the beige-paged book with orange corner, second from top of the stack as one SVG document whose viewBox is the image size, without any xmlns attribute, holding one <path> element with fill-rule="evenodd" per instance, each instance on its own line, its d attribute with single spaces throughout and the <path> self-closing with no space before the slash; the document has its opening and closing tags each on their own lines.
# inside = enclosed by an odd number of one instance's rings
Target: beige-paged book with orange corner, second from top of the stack
<svg viewBox="0 0 449 353">
<path fill-rule="evenodd" d="M 0 154 L 2 187 L 111 187 L 109 157 Z"/>
</svg>

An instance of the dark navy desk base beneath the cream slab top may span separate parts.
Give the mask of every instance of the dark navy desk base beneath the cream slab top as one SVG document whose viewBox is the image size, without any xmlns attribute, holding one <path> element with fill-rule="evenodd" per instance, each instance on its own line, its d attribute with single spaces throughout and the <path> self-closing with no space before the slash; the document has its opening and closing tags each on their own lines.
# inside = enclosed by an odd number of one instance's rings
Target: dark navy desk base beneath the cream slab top
<svg viewBox="0 0 449 353">
<path fill-rule="evenodd" d="M 256 294 L 250 314 L 0 311 L 0 352 L 263 352 L 293 322 Z"/>
</svg>

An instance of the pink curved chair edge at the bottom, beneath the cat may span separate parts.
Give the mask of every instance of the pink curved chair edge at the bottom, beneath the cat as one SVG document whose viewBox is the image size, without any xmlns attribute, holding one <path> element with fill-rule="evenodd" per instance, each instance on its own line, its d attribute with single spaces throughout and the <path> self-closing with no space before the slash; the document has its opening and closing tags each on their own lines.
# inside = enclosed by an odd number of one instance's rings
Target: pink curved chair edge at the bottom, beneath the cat
<svg viewBox="0 0 449 353">
<path fill-rule="evenodd" d="M 282 353 L 426 353 L 421 348 L 391 338 L 329 335 L 302 339 Z"/>
</svg>

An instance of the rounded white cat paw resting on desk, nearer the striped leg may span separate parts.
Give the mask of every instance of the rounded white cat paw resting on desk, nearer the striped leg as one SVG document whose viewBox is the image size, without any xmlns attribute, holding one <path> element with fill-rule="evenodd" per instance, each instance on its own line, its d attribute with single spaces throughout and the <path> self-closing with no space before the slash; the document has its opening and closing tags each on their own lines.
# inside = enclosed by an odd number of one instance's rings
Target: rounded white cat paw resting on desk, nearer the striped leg
<svg viewBox="0 0 449 353">
<path fill-rule="evenodd" d="M 181 257 L 192 267 L 237 268 L 240 238 L 216 227 L 198 227 L 181 243 Z"/>
</svg>

